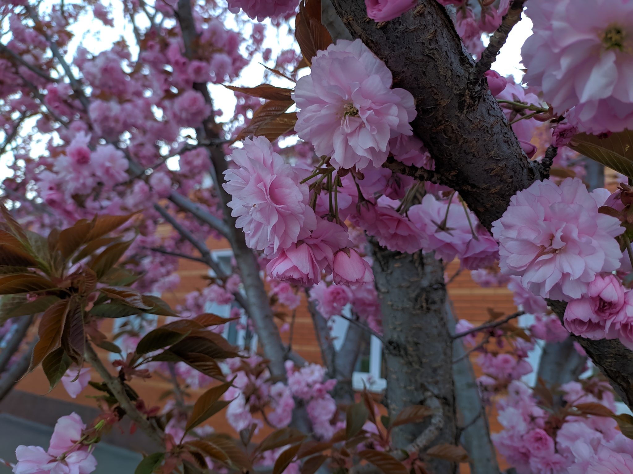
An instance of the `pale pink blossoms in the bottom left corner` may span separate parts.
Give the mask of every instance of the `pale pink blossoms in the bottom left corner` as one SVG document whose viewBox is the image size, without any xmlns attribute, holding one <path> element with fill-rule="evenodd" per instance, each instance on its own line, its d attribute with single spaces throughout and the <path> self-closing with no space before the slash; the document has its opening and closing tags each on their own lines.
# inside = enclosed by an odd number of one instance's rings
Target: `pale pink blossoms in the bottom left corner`
<svg viewBox="0 0 633 474">
<path fill-rule="evenodd" d="M 77 413 L 61 416 L 51 436 L 48 451 L 40 446 L 18 446 L 15 474 L 89 474 L 97 460 L 80 443 L 85 425 Z"/>
</svg>

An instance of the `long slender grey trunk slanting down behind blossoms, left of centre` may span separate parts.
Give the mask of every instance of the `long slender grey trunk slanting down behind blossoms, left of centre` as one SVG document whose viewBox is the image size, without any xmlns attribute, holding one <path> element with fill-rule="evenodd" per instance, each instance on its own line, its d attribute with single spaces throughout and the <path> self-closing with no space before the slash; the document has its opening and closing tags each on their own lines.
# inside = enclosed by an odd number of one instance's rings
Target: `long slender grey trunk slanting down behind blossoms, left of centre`
<svg viewBox="0 0 633 474">
<path fill-rule="evenodd" d="M 190 0 L 179 0 L 177 20 L 182 31 L 185 55 L 188 58 L 192 58 L 194 54 L 192 45 L 197 37 L 197 32 Z M 194 83 L 194 88 L 203 95 L 206 103 L 210 104 L 213 109 L 213 102 L 206 83 Z M 222 187 L 224 183 L 222 173 L 227 169 L 227 161 L 223 150 L 225 140 L 222 126 L 215 123 L 213 112 L 204 120 L 203 127 L 196 130 L 196 135 L 199 142 L 206 144 L 213 163 L 215 184 L 223 203 L 224 222 L 229 228 L 228 239 L 233 248 L 233 255 L 240 269 L 240 276 L 246 291 L 249 317 L 253 320 L 264 356 L 270 361 L 268 367 L 271 375 L 285 379 L 284 360 L 286 351 L 279 334 L 279 328 L 275 324 L 272 308 L 270 308 L 268 303 L 266 289 L 260 278 L 259 262 L 253 251 L 246 246 L 244 233 L 235 228 L 235 217 L 231 216 L 231 209 L 227 206 L 232 197 Z"/>
</svg>

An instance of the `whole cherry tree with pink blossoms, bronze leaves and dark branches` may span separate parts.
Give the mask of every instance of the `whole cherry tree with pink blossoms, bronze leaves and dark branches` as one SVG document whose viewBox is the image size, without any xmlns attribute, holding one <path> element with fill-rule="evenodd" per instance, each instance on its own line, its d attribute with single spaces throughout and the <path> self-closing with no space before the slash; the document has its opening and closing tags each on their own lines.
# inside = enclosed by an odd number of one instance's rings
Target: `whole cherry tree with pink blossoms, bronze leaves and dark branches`
<svg viewBox="0 0 633 474">
<path fill-rule="evenodd" d="M 40 364 L 51 388 L 103 393 L 94 422 L 63 416 L 48 449 L 17 447 L 14 472 L 87 474 L 102 430 L 128 416 L 156 444 L 141 474 L 495 473 L 495 448 L 518 472 L 633 473 L 633 418 L 615 405 L 633 406 L 633 3 L 131 0 L 116 21 L 98 2 L 0 9 L 13 173 L 0 398 Z M 491 70 L 523 15 L 525 87 Z M 70 54 L 87 18 L 134 43 Z M 276 58 L 267 18 L 296 38 Z M 259 58 L 263 82 L 235 85 Z M 225 121 L 212 85 L 237 100 Z M 588 190 L 580 154 L 629 181 Z M 229 270 L 208 238 L 228 241 Z M 179 285 L 180 258 L 213 277 L 171 308 L 155 295 Z M 456 259 L 507 285 L 518 312 L 455 322 Z M 323 365 L 275 321 L 303 297 Z M 257 349 L 221 335 L 242 314 Z M 101 322 L 123 317 L 109 340 Z M 350 322 L 339 350 L 333 317 Z M 388 415 L 351 386 L 363 334 L 384 344 Z M 537 340 L 565 344 L 570 368 L 530 388 Z M 601 374 L 579 379 L 587 357 Z M 170 380 L 170 400 L 147 406 L 134 377 Z M 191 405 L 182 383 L 207 390 Z M 505 429 L 491 436 L 492 406 Z M 223 409 L 239 441 L 210 429 Z"/>
</svg>

